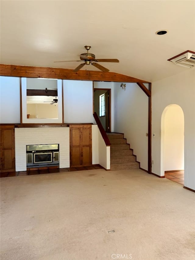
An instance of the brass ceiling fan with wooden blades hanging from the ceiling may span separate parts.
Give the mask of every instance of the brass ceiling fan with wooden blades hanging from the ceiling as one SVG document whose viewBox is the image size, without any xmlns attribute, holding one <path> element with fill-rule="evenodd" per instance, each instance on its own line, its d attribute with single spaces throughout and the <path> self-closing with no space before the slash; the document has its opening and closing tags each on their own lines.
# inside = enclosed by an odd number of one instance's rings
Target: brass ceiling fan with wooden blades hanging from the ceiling
<svg viewBox="0 0 195 260">
<path fill-rule="evenodd" d="M 90 64 L 93 65 L 94 67 L 100 69 L 101 71 L 108 72 L 109 69 L 106 69 L 105 67 L 103 67 L 102 65 L 100 65 L 96 62 L 119 62 L 118 59 L 96 59 L 94 54 L 89 53 L 91 46 L 86 45 L 84 47 L 87 50 L 87 53 L 80 54 L 80 61 L 84 61 L 84 63 L 81 63 L 79 66 L 77 66 L 76 69 L 73 70 L 73 72 L 77 72 L 84 65 L 90 65 Z M 54 61 L 54 62 L 67 62 L 67 61 Z"/>
</svg>

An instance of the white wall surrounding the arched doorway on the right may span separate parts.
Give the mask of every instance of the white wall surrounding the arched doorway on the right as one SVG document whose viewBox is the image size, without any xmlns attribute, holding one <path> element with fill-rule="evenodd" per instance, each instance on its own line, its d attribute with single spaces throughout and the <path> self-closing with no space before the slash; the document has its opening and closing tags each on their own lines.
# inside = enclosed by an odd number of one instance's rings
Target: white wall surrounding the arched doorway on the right
<svg viewBox="0 0 195 260">
<path fill-rule="evenodd" d="M 161 115 L 169 104 L 184 113 L 184 186 L 195 189 L 195 69 L 152 83 L 152 172 L 161 171 Z"/>
</svg>

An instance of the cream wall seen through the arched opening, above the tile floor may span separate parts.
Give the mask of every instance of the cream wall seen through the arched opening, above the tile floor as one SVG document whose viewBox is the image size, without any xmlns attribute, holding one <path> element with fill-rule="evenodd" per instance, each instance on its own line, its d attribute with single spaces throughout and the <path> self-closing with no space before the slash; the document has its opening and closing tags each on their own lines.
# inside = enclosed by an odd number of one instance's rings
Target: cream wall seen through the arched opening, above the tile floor
<svg viewBox="0 0 195 260">
<path fill-rule="evenodd" d="M 164 132 L 164 171 L 184 169 L 184 115 L 176 104 L 165 108 L 161 123 L 161 136 Z M 164 123 L 164 124 L 163 124 Z M 163 131 L 164 128 L 164 131 Z"/>
</svg>

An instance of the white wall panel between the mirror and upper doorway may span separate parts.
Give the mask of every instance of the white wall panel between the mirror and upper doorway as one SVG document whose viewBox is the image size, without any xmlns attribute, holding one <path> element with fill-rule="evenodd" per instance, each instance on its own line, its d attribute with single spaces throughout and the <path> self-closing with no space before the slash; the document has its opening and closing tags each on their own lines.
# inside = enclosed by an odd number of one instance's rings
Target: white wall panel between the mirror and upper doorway
<svg viewBox="0 0 195 260">
<path fill-rule="evenodd" d="M 93 123 L 92 81 L 64 80 L 64 122 Z"/>
</svg>

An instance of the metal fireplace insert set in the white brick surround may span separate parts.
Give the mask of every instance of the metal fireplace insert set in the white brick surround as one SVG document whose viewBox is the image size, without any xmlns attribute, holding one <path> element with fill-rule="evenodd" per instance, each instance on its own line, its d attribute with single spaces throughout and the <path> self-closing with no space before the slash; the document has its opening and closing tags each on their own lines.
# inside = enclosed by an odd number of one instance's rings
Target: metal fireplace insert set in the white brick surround
<svg viewBox="0 0 195 260">
<path fill-rule="evenodd" d="M 27 145 L 27 168 L 59 165 L 59 144 Z"/>
</svg>

